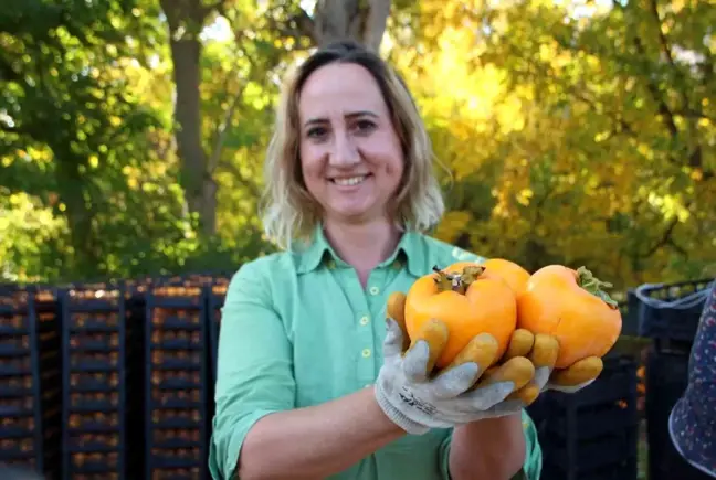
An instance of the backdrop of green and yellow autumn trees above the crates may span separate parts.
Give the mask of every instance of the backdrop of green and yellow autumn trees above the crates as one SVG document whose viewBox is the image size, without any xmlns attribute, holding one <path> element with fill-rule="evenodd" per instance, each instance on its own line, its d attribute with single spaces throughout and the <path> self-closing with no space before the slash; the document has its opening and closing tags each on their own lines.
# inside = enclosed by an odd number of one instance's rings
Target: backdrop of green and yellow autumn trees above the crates
<svg viewBox="0 0 716 480">
<path fill-rule="evenodd" d="M 420 104 L 450 171 L 436 236 L 619 289 L 714 275 L 715 24 L 707 0 L 8 0 L 0 278 L 272 250 L 278 84 L 344 34 L 380 43 Z"/>
</svg>

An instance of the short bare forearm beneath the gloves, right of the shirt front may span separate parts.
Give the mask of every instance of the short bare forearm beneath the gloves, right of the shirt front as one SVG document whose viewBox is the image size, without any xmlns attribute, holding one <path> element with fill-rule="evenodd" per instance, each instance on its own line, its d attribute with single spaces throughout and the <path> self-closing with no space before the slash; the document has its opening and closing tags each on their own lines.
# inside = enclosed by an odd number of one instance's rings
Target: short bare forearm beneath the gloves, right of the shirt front
<svg viewBox="0 0 716 480">
<path fill-rule="evenodd" d="M 453 431 L 450 474 L 453 480 L 509 480 L 523 468 L 525 455 L 520 414 L 474 422 Z"/>
</svg>

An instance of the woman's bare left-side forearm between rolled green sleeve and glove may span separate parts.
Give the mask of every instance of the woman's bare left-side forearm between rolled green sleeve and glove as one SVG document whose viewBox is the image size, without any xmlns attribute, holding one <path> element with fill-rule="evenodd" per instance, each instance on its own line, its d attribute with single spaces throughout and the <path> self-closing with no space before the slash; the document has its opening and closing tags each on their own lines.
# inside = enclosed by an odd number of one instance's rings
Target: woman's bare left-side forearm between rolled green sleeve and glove
<svg viewBox="0 0 716 480">
<path fill-rule="evenodd" d="M 260 419 L 244 440 L 239 477 L 326 478 L 404 434 L 382 413 L 373 388 L 367 387 L 323 405 Z"/>
</svg>

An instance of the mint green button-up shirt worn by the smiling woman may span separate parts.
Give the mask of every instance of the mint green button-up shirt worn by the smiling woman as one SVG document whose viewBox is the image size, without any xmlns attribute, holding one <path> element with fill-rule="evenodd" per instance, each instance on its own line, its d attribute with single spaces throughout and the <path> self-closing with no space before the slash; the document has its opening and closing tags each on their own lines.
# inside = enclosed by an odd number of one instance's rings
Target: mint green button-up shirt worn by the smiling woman
<svg viewBox="0 0 716 480">
<path fill-rule="evenodd" d="M 407 233 L 364 289 L 320 228 L 299 253 L 257 258 L 232 278 L 222 310 L 217 412 L 209 452 L 214 479 L 233 479 L 241 445 L 263 416 L 317 405 L 372 384 L 382 365 L 388 296 L 459 260 L 481 257 Z M 541 450 L 526 413 L 525 473 L 537 480 Z M 331 480 L 448 480 L 451 429 L 404 436 Z"/>
</svg>

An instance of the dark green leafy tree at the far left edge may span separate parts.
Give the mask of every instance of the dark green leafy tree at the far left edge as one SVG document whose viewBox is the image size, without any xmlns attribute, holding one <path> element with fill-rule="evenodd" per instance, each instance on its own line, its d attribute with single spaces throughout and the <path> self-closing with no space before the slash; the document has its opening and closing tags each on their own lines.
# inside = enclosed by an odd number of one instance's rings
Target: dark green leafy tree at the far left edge
<svg viewBox="0 0 716 480">
<path fill-rule="evenodd" d="M 151 6 L 140 0 L 29 0 L 0 13 L 2 185 L 66 218 L 64 268 L 107 267 L 99 227 L 107 224 L 98 215 L 115 207 L 123 168 L 158 126 L 124 72 L 146 62 L 155 44 L 144 11 L 150 19 Z"/>
</svg>

